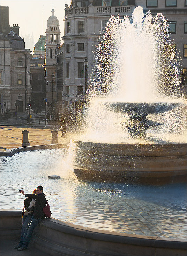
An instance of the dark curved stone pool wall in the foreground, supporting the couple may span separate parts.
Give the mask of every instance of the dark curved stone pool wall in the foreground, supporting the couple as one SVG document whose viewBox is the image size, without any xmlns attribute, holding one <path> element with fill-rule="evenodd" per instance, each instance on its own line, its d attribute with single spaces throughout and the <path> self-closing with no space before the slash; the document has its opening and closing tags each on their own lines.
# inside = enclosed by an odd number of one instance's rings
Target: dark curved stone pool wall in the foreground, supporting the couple
<svg viewBox="0 0 187 256">
<path fill-rule="evenodd" d="M 17 239 L 21 211 L 1 211 L 1 240 Z M 40 221 L 32 246 L 50 255 L 186 255 L 186 241 L 90 229 L 54 218 Z"/>
</svg>

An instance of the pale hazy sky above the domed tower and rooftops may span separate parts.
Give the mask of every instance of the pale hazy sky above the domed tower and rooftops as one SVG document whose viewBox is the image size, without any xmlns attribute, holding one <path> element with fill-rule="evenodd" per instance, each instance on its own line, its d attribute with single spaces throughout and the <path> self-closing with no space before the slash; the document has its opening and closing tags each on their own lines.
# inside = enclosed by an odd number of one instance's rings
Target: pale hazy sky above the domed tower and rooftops
<svg viewBox="0 0 187 256">
<path fill-rule="evenodd" d="M 68 6 L 71 1 L 63 0 L 1 0 L 1 6 L 9 6 L 9 24 L 18 24 L 20 27 L 20 36 L 30 33 L 34 36 L 35 43 L 42 35 L 42 6 L 43 6 L 43 35 L 45 35 L 46 24 L 51 16 L 52 8 L 54 15 L 60 23 L 61 37 L 64 34 L 65 3 Z M 26 32 L 26 33 L 25 33 Z M 62 42 L 62 41 L 61 41 Z M 27 45 L 25 45 L 27 48 Z"/>
</svg>

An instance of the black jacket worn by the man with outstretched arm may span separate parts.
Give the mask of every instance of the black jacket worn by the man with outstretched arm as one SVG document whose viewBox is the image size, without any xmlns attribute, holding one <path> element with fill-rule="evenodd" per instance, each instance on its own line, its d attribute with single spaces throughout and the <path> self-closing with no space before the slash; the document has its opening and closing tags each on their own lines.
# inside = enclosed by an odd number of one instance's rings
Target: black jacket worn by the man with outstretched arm
<svg viewBox="0 0 187 256">
<path fill-rule="evenodd" d="M 44 193 L 40 193 L 38 195 L 25 194 L 25 197 L 36 199 L 33 218 L 38 219 L 38 218 L 44 217 L 43 207 L 45 206 L 45 203 L 46 203 L 46 198 Z"/>
</svg>

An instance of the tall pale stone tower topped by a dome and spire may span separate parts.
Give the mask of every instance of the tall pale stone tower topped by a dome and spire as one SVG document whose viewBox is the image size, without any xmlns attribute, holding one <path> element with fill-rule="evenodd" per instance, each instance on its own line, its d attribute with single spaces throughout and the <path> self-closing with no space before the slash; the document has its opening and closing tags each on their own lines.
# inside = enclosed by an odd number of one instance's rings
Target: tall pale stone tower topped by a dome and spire
<svg viewBox="0 0 187 256">
<path fill-rule="evenodd" d="M 59 20 L 54 16 L 54 9 L 52 9 L 51 16 L 47 20 L 46 28 L 46 40 L 45 40 L 45 76 L 48 85 L 46 87 L 47 102 L 52 105 L 52 100 L 55 102 L 55 50 L 57 45 L 60 45 L 60 27 Z M 54 74 L 54 80 L 52 81 L 51 75 Z M 54 106 L 54 104 L 53 104 Z"/>
</svg>

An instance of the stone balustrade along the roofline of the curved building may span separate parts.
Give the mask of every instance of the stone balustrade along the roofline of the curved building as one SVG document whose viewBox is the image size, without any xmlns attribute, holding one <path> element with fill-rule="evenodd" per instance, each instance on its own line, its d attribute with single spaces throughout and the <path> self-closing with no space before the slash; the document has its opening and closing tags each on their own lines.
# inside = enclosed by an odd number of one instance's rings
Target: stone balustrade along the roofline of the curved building
<svg viewBox="0 0 187 256">
<path fill-rule="evenodd" d="M 132 14 L 133 10 L 135 9 L 135 5 L 129 6 L 96 6 L 96 7 L 78 7 L 78 8 L 71 8 L 65 9 L 65 15 L 83 15 L 83 14 L 111 14 L 111 13 L 125 13 L 125 14 Z M 89 11 L 90 10 L 90 11 Z"/>
</svg>

